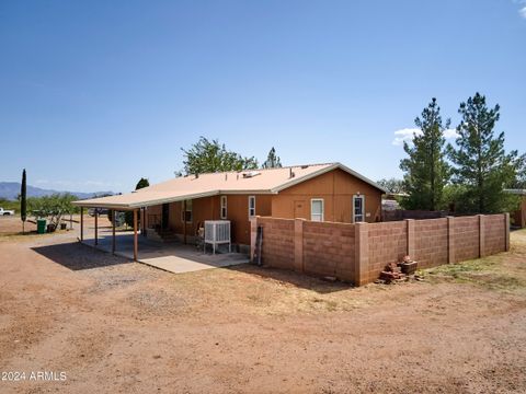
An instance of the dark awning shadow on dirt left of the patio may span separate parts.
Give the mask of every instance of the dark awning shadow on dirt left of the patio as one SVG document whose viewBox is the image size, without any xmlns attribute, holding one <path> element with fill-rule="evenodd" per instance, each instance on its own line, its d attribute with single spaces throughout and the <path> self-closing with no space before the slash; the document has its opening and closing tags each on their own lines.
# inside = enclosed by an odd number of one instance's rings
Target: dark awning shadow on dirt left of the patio
<svg viewBox="0 0 526 394">
<path fill-rule="evenodd" d="M 35 246 L 33 251 L 71 270 L 107 267 L 133 263 L 127 258 L 113 256 L 80 242 Z"/>
</svg>

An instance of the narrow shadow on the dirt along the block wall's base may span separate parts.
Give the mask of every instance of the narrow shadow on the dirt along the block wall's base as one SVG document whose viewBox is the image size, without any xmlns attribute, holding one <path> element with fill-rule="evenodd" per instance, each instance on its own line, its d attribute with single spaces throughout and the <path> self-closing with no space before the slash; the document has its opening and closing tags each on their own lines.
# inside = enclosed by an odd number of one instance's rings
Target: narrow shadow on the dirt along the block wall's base
<svg viewBox="0 0 526 394">
<path fill-rule="evenodd" d="M 316 291 L 320 294 L 328 294 L 336 291 L 348 290 L 353 288 L 351 283 L 341 281 L 330 281 L 305 274 L 298 274 L 286 269 L 271 268 L 258 266 L 255 264 L 240 264 L 236 266 L 225 267 L 225 269 L 259 276 L 262 279 L 277 280 L 287 282 L 298 288 Z"/>
</svg>

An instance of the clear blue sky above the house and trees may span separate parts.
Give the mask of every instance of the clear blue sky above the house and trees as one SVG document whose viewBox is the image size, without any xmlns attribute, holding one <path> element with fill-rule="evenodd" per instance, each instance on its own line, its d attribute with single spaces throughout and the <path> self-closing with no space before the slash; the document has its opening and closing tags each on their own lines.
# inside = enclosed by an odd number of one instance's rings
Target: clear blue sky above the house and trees
<svg viewBox="0 0 526 394">
<path fill-rule="evenodd" d="M 477 91 L 526 151 L 521 0 L 2 0 L 0 50 L 0 181 L 127 192 L 199 136 L 401 176 L 399 130 Z"/>
</svg>

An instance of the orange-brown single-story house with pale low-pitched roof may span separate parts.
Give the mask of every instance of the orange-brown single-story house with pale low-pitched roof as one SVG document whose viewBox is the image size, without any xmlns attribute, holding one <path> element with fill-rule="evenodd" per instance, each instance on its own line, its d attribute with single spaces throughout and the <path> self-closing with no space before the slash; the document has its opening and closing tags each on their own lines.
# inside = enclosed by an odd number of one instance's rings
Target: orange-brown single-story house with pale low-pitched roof
<svg viewBox="0 0 526 394">
<path fill-rule="evenodd" d="M 295 165 L 175 177 L 79 207 L 140 211 L 148 236 L 191 242 L 205 220 L 229 220 L 232 243 L 250 245 L 250 218 L 334 222 L 381 220 L 386 190 L 341 163 Z"/>
</svg>

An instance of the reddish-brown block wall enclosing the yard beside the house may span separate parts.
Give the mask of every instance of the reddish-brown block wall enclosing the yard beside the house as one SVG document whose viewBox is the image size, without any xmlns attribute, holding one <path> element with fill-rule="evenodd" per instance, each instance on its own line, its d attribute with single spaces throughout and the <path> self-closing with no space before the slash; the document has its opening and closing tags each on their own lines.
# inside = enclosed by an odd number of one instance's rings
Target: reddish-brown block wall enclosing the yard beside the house
<svg viewBox="0 0 526 394">
<path fill-rule="evenodd" d="M 510 250 L 510 215 L 478 215 L 382 223 L 251 219 L 251 258 L 258 228 L 264 265 L 362 286 L 388 263 L 409 255 L 420 268 L 483 257 Z"/>
</svg>

